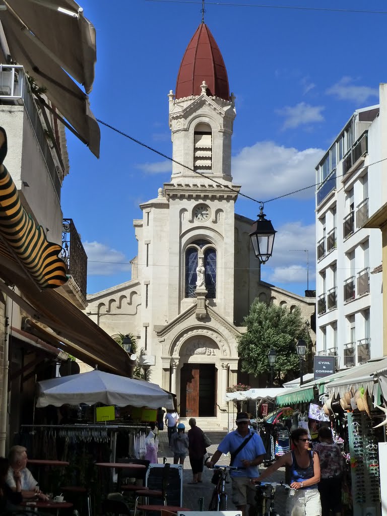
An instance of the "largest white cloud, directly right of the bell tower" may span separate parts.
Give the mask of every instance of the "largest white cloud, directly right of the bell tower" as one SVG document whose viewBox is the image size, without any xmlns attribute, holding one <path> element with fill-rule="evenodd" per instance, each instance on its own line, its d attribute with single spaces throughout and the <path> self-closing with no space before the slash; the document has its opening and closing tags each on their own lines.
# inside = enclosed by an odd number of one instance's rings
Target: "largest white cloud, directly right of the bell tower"
<svg viewBox="0 0 387 516">
<path fill-rule="evenodd" d="M 322 149 L 299 151 L 272 141 L 259 141 L 233 157 L 233 180 L 242 185 L 241 192 L 264 201 L 314 184 L 314 168 L 323 154 Z M 297 197 L 311 198 L 314 191 L 309 188 Z"/>
</svg>

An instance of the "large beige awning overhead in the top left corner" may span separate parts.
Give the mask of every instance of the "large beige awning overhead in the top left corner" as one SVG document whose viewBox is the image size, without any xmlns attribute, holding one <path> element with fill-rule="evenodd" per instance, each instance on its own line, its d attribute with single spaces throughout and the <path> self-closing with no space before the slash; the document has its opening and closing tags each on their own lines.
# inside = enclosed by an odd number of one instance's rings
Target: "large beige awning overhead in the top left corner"
<svg viewBox="0 0 387 516">
<path fill-rule="evenodd" d="M 94 79 L 94 27 L 73 0 L 0 0 L 1 6 L 6 7 L 0 21 L 12 60 L 46 88 L 47 98 L 99 157 L 100 128 L 86 94 Z M 86 93 L 68 74 L 84 84 Z"/>
</svg>

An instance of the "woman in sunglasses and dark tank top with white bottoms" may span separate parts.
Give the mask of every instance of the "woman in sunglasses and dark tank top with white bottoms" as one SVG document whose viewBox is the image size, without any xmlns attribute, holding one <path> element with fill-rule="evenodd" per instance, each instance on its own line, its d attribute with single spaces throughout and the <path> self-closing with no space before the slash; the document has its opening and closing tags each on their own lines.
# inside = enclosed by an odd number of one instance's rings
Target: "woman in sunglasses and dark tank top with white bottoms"
<svg viewBox="0 0 387 516">
<path fill-rule="evenodd" d="M 253 483 L 261 482 L 280 467 L 289 469 L 290 486 L 296 489 L 294 496 L 287 497 L 286 516 L 321 516 L 320 493 L 317 484 L 320 481 L 320 461 L 318 455 L 309 449 L 308 431 L 297 428 L 291 433 L 294 449 L 288 451 L 271 464 Z"/>
</svg>

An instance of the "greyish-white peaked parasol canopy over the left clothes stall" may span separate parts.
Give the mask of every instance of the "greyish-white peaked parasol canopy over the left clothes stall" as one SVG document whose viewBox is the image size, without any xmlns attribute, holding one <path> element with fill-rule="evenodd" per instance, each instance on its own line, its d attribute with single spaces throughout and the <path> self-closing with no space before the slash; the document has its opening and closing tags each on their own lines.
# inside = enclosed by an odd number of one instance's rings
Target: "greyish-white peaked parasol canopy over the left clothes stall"
<svg viewBox="0 0 387 516">
<path fill-rule="evenodd" d="M 70 375 L 38 382 L 37 407 L 63 404 L 117 405 L 174 409 L 172 394 L 155 383 L 134 380 L 124 376 L 94 370 L 89 373 Z"/>
</svg>

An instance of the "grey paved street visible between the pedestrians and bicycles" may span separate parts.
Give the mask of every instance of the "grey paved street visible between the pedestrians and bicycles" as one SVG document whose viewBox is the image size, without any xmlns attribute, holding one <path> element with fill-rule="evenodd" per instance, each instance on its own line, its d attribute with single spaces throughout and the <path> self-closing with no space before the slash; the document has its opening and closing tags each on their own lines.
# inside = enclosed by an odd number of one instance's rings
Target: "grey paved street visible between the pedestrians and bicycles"
<svg viewBox="0 0 387 516">
<path fill-rule="evenodd" d="M 225 436 L 225 432 L 206 432 L 207 436 L 213 444 L 207 448 L 209 454 L 214 454 L 218 444 Z M 167 431 L 163 430 L 159 433 L 159 452 L 158 452 L 158 461 L 163 462 L 164 457 L 167 458 L 167 462 L 173 463 L 173 456 L 171 450 L 168 446 L 168 435 Z M 222 455 L 218 464 L 229 464 L 230 458 Z M 213 475 L 212 470 L 204 469 L 203 472 L 203 482 L 195 485 L 190 485 L 188 482 L 192 480 L 191 468 L 189 465 L 188 457 L 184 462 L 184 471 L 183 471 L 183 506 L 187 507 L 191 510 L 199 510 L 199 499 L 200 497 L 204 498 L 204 509 L 207 510 L 209 501 L 211 499 L 212 492 L 214 490 L 214 485 L 211 483 L 211 478 Z M 272 477 L 268 480 L 285 481 L 285 470 L 281 468 L 278 472 L 276 472 Z M 229 494 L 228 498 L 228 509 L 234 509 L 235 506 L 232 503 L 231 499 L 231 482 L 227 485 L 227 493 Z M 285 508 L 285 498 L 286 495 L 284 492 L 276 493 L 276 510 L 281 515 L 284 514 Z"/>
</svg>

